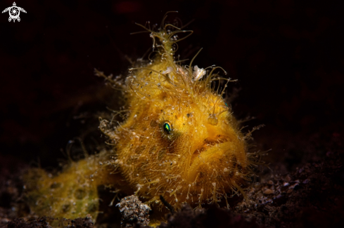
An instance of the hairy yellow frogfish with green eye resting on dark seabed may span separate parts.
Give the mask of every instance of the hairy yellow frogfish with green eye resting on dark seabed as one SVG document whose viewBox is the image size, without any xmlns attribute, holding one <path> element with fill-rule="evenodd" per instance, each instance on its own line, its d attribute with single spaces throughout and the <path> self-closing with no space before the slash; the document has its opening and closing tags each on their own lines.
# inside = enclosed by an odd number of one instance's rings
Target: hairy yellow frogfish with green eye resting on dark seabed
<svg viewBox="0 0 344 228">
<path fill-rule="evenodd" d="M 181 65 L 175 58 L 177 42 L 191 31 L 170 24 L 144 28 L 153 39 L 153 60 L 138 61 L 123 83 L 108 78 L 123 91 L 127 109 L 122 123 L 101 119 L 112 148 L 70 161 L 56 175 L 32 168 L 25 198 L 37 215 L 96 220 L 101 185 L 136 194 L 153 208 L 163 208 L 160 196 L 180 208 L 244 194 L 257 154 L 248 153 L 251 132 L 241 133 L 223 98 L 230 80 L 215 72 L 221 67 Z M 179 39 L 180 33 L 186 36 Z"/>
</svg>

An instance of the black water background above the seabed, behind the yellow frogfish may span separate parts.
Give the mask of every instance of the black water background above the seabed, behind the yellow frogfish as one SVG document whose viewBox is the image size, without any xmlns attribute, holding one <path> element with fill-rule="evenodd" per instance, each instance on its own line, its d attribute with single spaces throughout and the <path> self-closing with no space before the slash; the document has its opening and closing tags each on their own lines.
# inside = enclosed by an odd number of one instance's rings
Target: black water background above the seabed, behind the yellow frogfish
<svg viewBox="0 0 344 228">
<path fill-rule="evenodd" d="M 1 11 L 13 0 L 1 1 Z M 255 116 L 258 149 L 288 171 L 314 159 L 303 156 L 309 138 L 342 137 L 344 30 L 341 1 L 16 1 L 20 22 L 0 15 L 1 166 L 32 161 L 47 167 L 65 158 L 68 141 L 93 129 L 98 112 L 118 109 L 94 76 L 125 75 L 129 61 L 152 41 L 142 25 L 177 17 L 193 35 L 179 43 L 181 58 L 218 65 L 238 79 L 232 103 L 239 119 Z M 125 57 L 127 56 L 127 58 Z M 233 87 L 232 87 L 233 86 Z M 118 95 L 118 94 L 117 94 Z M 120 95 L 118 95 L 120 97 Z M 120 98 L 118 98 L 120 100 Z M 86 133 L 85 133 L 86 132 Z M 97 136 L 98 135 L 98 136 Z M 316 136 L 314 136 L 316 135 Z M 307 148 L 306 148 L 307 149 Z M 321 154 L 314 152 L 315 159 Z M 326 153 L 326 149 L 319 153 Z M 281 168 L 280 163 L 285 166 Z M 277 167 L 278 166 L 278 167 Z"/>
</svg>

